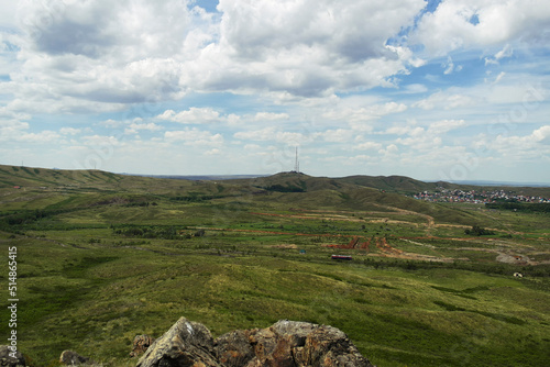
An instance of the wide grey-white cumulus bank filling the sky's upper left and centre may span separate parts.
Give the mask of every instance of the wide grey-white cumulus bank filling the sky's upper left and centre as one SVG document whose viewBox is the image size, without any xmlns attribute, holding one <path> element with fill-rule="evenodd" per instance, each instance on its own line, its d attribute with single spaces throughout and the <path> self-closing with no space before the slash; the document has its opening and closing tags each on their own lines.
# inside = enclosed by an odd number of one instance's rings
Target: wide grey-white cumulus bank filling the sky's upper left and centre
<svg viewBox="0 0 550 367">
<path fill-rule="evenodd" d="M 320 96 L 389 86 L 420 65 L 386 42 L 422 7 L 221 0 L 215 15 L 186 0 L 19 2 L 21 65 L 7 86 L 18 101 L 10 108 L 113 111 L 189 91 Z"/>
</svg>

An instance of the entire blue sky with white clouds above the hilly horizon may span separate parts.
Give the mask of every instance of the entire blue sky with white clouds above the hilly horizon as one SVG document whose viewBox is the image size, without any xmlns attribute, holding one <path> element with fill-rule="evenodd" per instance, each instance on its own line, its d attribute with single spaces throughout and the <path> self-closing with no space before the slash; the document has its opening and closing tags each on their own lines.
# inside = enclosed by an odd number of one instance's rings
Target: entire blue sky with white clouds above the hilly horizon
<svg viewBox="0 0 550 367">
<path fill-rule="evenodd" d="M 550 185 L 548 0 L 0 0 L 0 164 Z"/>
</svg>

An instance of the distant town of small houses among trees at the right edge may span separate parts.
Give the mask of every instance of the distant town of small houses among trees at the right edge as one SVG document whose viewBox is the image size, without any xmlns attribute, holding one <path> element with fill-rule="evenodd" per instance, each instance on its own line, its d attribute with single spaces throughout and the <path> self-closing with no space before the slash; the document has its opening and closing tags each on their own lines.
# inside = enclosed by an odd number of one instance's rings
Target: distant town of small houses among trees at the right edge
<svg viewBox="0 0 550 367">
<path fill-rule="evenodd" d="M 422 191 L 414 196 L 415 199 L 431 202 L 470 202 L 476 204 L 493 202 L 536 202 L 550 203 L 550 199 L 542 197 L 529 197 L 505 190 L 460 190 L 440 188 L 435 192 Z"/>
</svg>

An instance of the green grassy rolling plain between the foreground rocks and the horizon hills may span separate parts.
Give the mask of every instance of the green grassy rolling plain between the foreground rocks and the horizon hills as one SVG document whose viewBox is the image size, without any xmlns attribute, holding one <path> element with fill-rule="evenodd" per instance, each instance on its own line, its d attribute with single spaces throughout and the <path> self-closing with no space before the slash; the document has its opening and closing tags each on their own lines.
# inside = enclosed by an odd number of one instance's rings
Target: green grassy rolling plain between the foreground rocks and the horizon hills
<svg viewBox="0 0 550 367">
<path fill-rule="evenodd" d="M 330 179 L 0 168 L 0 290 L 16 247 L 18 347 L 35 366 L 64 349 L 133 366 L 133 337 L 182 315 L 215 336 L 279 319 L 330 324 L 382 367 L 550 365 L 548 214 Z M 469 236 L 472 225 L 494 234 Z"/>
</svg>

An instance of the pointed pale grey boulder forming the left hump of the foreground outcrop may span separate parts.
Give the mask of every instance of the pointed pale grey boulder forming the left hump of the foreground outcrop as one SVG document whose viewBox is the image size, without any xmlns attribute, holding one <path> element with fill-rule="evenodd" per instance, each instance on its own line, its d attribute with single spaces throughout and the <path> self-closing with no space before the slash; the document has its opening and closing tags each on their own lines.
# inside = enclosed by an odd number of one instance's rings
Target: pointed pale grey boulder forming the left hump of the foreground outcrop
<svg viewBox="0 0 550 367">
<path fill-rule="evenodd" d="M 213 340 L 202 324 L 180 318 L 157 338 L 138 362 L 138 367 L 219 367 Z"/>
</svg>

